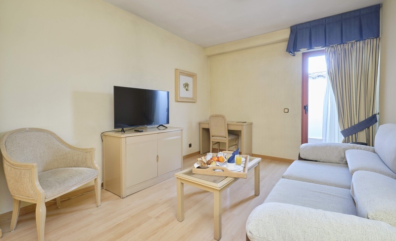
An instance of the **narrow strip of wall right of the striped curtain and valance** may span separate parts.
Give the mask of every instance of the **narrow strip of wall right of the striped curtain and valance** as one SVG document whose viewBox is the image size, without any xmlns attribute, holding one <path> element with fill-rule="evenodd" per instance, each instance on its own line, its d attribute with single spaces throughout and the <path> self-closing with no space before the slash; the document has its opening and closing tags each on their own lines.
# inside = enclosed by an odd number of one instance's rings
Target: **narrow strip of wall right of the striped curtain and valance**
<svg viewBox="0 0 396 241">
<path fill-rule="evenodd" d="M 396 123 L 396 1 L 384 0 L 382 5 L 382 36 L 380 57 L 380 124 Z"/>
</svg>

